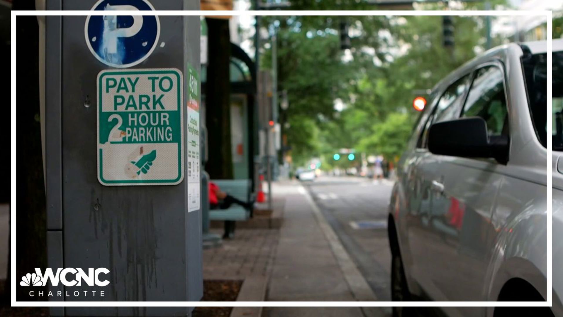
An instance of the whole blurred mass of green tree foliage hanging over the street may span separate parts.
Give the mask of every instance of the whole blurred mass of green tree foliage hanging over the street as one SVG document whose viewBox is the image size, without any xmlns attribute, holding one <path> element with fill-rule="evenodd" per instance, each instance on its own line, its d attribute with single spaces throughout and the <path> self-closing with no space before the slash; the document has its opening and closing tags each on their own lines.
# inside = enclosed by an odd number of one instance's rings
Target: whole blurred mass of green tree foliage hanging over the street
<svg viewBox="0 0 563 317">
<path fill-rule="evenodd" d="M 494 1 L 493 7 L 498 3 L 506 1 Z M 292 1 L 292 9 L 359 6 L 365 3 Z M 483 8 L 482 3 L 466 6 Z M 441 16 L 270 16 L 261 21 L 263 31 L 275 29 L 277 36 L 278 85 L 280 91 L 288 91 L 285 117 L 291 127 L 285 131 L 293 162 L 299 165 L 321 157 L 323 168 L 350 164 L 347 159 L 333 160 L 339 148 L 387 159 L 399 155 L 418 115 L 412 108 L 413 90 L 431 89 L 484 51 L 486 35 L 480 16 L 453 17 L 451 50 L 443 46 Z M 347 54 L 340 49 L 342 21 L 350 25 L 352 49 Z M 262 68 L 271 67 L 270 47 L 262 42 Z M 336 111 L 335 99 L 342 100 L 345 109 Z"/>
</svg>

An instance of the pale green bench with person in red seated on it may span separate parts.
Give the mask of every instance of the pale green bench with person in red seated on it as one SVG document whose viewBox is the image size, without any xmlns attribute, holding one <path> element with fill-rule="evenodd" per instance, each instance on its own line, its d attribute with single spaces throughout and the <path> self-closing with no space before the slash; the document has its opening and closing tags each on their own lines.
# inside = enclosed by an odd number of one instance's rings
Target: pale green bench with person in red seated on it
<svg viewBox="0 0 563 317">
<path fill-rule="evenodd" d="M 250 179 L 216 179 L 211 180 L 221 191 L 242 201 L 251 201 L 251 180 Z M 224 238 L 232 237 L 235 231 L 235 221 L 245 221 L 252 218 L 252 210 L 247 210 L 243 206 L 236 204 L 227 209 L 209 210 L 209 220 L 225 221 Z"/>
</svg>

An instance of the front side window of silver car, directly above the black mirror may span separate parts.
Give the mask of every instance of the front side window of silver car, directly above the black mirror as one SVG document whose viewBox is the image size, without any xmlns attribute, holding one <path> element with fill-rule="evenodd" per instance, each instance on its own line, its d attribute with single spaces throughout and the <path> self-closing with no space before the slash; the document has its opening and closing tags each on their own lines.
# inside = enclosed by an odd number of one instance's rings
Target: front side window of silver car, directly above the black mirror
<svg viewBox="0 0 563 317">
<path fill-rule="evenodd" d="M 477 70 L 462 117 L 483 118 L 489 137 L 508 134 L 508 109 L 501 69 L 488 66 Z"/>
</svg>

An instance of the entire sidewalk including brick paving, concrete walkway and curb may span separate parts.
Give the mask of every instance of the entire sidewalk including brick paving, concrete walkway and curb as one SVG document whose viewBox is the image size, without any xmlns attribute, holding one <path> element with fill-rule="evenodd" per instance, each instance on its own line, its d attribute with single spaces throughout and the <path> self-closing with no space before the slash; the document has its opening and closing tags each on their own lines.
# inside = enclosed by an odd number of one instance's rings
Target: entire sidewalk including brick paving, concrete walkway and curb
<svg viewBox="0 0 563 317">
<path fill-rule="evenodd" d="M 280 229 L 237 228 L 203 250 L 205 280 L 243 281 L 237 301 L 377 301 L 364 276 L 296 180 L 272 184 Z M 212 230 L 221 234 L 221 229 Z M 378 307 L 235 307 L 230 316 L 387 316 Z"/>
</svg>

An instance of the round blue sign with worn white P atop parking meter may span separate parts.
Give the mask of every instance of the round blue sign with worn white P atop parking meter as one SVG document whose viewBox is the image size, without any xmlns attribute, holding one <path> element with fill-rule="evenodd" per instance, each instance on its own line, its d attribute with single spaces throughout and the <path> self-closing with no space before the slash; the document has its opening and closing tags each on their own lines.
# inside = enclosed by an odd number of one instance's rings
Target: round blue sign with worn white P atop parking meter
<svg viewBox="0 0 563 317">
<path fill-rule="evenodd" d="M 127 68 L 144 61 L 158 44 L 158 16 L 115 16 L 112 10 L 154 10 L 147 0 L 99 0 L 92 10 L 108 15 L 88 16 L 84 37 L 92 54 L 111 67 Z M 133 13 L 132 13 L 133 14 Z"/>
</svg>

